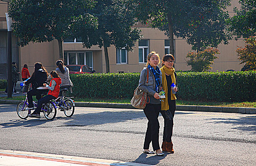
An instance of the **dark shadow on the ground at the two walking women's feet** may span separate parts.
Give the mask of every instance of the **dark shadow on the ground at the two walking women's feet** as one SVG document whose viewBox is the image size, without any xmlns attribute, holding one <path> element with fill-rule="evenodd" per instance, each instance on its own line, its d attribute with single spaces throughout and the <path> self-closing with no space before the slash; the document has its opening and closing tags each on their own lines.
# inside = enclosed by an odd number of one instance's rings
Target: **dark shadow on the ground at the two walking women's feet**
<svg viewBox="0 0 256 166">
<path fill-rule="evenodd" d="M 157 156 L 157 155 L 147 155 L 142 153 L 141 155 L 139 155 L 139 157 L 132 161 L 134 163 L 141 163 L 141 164 L 148 164 L 148 165 L 157 165 L 160 163 L 160 161 L 162 159 L 164 159 L 165 157 L 167 157 L 167 155 L 170 155 L 170 153 L 165 153 L 164 156 Z M 150 156 L 150 157 L 148 157 Z"/>
</svg>

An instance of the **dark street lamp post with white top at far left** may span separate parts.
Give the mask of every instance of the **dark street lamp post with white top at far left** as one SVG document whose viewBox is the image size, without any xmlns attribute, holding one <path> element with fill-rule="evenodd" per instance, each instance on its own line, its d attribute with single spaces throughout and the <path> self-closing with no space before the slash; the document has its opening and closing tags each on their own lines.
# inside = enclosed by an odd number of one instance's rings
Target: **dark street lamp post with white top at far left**
<svg viewBox="0 0 256 166">
<path fill-rule="evenodd" d="M 6 22 L 7 22 L 7 31 L 8 31 L 8 39 L 7 39 L 7 97 L 11 98 L 12 94 L 12 66 L 11 66 L 11 23 L 12 20 L 9 17 L 8 13 L 5 13 Z"/>
</svg>

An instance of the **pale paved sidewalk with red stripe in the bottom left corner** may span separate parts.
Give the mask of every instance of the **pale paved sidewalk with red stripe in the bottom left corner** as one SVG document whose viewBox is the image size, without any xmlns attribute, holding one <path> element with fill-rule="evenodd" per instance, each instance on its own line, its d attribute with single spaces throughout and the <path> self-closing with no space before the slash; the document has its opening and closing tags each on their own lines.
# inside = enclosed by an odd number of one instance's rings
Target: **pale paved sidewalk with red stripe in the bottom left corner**
<svg viewBox="0 0 256 166">
<path fill-rule="evenodd" d="M 0 166 L 151 166 L 88 157 L 0 149 Z"/>
</svg>

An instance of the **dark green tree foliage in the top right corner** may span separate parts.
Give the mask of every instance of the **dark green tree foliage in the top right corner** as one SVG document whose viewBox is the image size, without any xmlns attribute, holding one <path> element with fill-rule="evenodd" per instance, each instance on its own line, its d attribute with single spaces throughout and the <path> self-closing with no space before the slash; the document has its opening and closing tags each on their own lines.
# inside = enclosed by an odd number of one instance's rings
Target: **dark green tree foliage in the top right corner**
<svg viewBox="0 0 256 166">
<path fill-rule="evenodd" d="M 229 30 L 239 37 L 256 36 L 256 2 L 255 0 L 239 0 L 241 8 L 234 8 L 235 15 L 229 19 Z"/>
</svg>

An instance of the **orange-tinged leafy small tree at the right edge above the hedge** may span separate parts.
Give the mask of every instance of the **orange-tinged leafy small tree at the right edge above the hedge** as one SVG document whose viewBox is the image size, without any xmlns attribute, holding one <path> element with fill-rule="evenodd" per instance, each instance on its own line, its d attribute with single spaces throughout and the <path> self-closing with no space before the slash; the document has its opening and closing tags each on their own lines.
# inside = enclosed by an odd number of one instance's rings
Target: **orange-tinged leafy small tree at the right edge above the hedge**
<svg viewBox="0 0 256 166">
<path fill-rule="evenodd" d="M 243 68 L 246 70 L 256 70 L 256 36 L 246 38 L 245 42 L 244 48 L 236 49 L 238 59 L 242 61 L 240 64 L 245 64 Z"/>
</svg>

